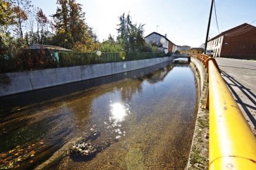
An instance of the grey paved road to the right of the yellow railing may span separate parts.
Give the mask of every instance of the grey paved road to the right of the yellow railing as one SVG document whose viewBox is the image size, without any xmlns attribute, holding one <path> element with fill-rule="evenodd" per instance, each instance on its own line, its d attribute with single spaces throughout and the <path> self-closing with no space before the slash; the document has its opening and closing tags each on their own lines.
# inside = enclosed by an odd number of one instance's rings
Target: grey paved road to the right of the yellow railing
<svg viewBox="0 0 256 170">
<path fill-rule="evenodd" d="M 256 133 L 256 61 L 215 58 L 221 76 Z"/>
</svg>

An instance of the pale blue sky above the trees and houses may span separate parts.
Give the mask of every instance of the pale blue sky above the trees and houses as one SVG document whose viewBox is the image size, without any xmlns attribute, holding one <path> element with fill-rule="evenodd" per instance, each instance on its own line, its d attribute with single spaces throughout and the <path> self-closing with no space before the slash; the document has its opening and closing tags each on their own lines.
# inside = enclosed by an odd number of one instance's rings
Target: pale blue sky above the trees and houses
<svg viewBox="0 0 256 170">
<path fill-rule="evenodd" d="M 89 26 L 100 41 L 117 35 L 118 16 L 130 12 L 132 21 L 145 24 L 145 36 L 153 31 L 167 34 L 177 45 L 198 47 L 205 41 L 211 0 L 77 0 L 83 5 Z M 220 31 L 256 20 L 255 0 L 215 0 Z M 46 15 L 56 12 L 55 0 L 32 0 Z M 158 25 L 158 27 L 156 26 Z M 252 23 L 256 26 L 256 22 Z M 218 34 L 215 13 L 210 36 Z"/>
</svg>

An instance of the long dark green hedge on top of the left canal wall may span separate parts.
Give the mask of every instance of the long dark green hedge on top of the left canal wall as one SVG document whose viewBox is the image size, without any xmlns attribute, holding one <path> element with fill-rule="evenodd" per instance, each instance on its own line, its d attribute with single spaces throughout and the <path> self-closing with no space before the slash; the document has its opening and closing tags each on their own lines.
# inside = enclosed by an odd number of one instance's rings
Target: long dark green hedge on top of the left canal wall
<svg viewBox="0 0 256 170">
<path fill-rule="evenodd" d="M 130 60 L 153 59 L 156 57 L 164 57 L 164 54 L 151 52 L 102 52 L 101 55 L 97 55 L 96 52 L 60 52 L 58 60 L 48 51 L 26 50 L 20 52 L 15 57 L 0 55 L 0 73 L 72 67 L 96 63 L 124 62 Z"/>
</svg>

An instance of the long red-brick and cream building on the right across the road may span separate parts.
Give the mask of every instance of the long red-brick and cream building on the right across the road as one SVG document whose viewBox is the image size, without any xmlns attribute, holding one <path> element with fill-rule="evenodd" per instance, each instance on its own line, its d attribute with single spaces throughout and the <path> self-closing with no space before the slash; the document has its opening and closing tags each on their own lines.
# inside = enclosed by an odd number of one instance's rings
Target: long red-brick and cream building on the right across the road
<svg viewBox="0 0 256 170">
<path fill-rule="evenodd" d="M 211 38 L 207 49 L 213 57 L 256 59 L 256 27 L 244 23 Z"/>
</svg>

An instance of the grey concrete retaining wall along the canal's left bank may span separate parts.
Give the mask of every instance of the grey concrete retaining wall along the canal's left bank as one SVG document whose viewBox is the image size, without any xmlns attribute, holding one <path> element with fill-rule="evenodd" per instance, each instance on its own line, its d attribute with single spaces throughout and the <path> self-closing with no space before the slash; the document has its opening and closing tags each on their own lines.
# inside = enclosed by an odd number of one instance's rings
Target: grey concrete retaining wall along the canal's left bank
<svg viewBox="0 0 256 170">
<path fill-rule="evenodd" d="M 150 67 L 151 65 L 167 62 L 168 60 L 173 60 L 173 57 L 4 73 L 0 75 L 0 96 L 114 75 Z"/>
</svg>

